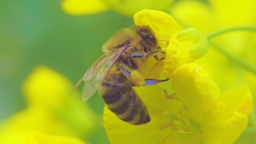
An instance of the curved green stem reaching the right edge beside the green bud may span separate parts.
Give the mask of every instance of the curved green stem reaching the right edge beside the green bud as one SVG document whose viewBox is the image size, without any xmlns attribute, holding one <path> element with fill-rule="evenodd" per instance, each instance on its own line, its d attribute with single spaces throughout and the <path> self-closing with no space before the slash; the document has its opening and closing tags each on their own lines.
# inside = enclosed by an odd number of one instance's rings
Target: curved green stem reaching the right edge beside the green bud
<svg viewBox="0 0 256 144">
<path fill-rule="evenodd" d="M 232 27 L 232 28 L 225 28 L 223 30 L 214 31 L 213 33 L 207 34 L 206 38 L 208 40 L 212 39 L 213 37 L 217 37 L 221 34 L 228 33 L 231 31 L 238 31 L 238 30 L 247 30 L 247 31 L 256 31 L 256 27 Z"/>
</svg>

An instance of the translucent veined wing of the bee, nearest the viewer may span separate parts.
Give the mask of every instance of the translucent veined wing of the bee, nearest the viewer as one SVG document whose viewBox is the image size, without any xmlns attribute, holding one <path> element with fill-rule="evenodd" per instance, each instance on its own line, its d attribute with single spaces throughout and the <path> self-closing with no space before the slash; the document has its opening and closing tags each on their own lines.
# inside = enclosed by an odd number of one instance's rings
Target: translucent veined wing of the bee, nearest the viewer
<svg viewBox="0 0 256 144">
<path fill-rule="evenodd" d="M 89 70 L 86 71 L 85 75 L 83 76 L 83 81 L 85 81 L 85 85 L 83 86 L 82 91 L 83 101 L 86 101 L 89 98 L 91 98 L 91 96 L 97 91 L 97 89 L 103 83 L 107 74 L 109 74 L 109 71 L 115 64 L 116 60 L 120 57 L 120 55 L 122 54 L 122 52 L 124 52 L 125 49 L 126 48 L 119 49 L 111 55 L 101 56 L 89 68 Z"/>
</svg>

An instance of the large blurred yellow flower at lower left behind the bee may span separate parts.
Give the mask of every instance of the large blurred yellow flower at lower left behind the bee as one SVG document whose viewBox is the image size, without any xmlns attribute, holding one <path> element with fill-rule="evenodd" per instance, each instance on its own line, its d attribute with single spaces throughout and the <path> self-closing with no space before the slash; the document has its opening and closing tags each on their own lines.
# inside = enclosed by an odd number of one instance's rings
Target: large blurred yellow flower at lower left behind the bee
<svg viewBox="0 0 256 144">
<path fill-rule="evenodd" d="M 42 141 L 55 139 L 48 135 L 89 136 L 97 128 L 97 116 L 81 101 L 79 92 L 68 96 L 72 88 L 72 83 L 56 71 L 44 66 L 34 68 L 22 85 L 28 106 L 1 123 L 0 143 L 24 144 L 28 135 L 34 132 L 47 134 L 36 134 L 38 143 L 41 138 Z M 56 140 L 62 141 L 62 137 Z M 78 140 L 76 143 L 80 144 Z"/>
</svg>

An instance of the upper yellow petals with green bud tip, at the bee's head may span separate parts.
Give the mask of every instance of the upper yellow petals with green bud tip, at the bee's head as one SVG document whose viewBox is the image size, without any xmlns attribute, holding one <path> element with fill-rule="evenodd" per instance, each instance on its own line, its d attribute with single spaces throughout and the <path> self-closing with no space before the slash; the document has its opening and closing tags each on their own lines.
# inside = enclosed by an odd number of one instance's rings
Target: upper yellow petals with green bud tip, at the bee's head
<svg viewBox="0 0 256 144">
<path fill-rule="evenodd" d="M 134 15 L 134 24 L 149 25 L 152 28 L 162 52 L 166 52 L 163 78 L 171 77 L 173 71 L 182 64 L 201 58 L 208 50 L 205 36 L 189 28 L 181 31 L 179 25 L 167 13 L 157 10 L 141 10 Z"/>
</svg>

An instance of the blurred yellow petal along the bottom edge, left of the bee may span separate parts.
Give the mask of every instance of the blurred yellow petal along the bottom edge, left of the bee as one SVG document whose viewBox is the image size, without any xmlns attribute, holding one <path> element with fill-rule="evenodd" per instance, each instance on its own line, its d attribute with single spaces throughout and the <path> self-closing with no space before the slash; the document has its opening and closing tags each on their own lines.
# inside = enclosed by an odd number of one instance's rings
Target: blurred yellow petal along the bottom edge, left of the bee
<svg viewBox="0 0 256 144">
<path fill-rule="evenodd" d="M 40 132 L 34 132 L 27 136 L 25 144 L 85 144 L 85 143 L 74 137 L 47 135 Z"/>
</svg>

